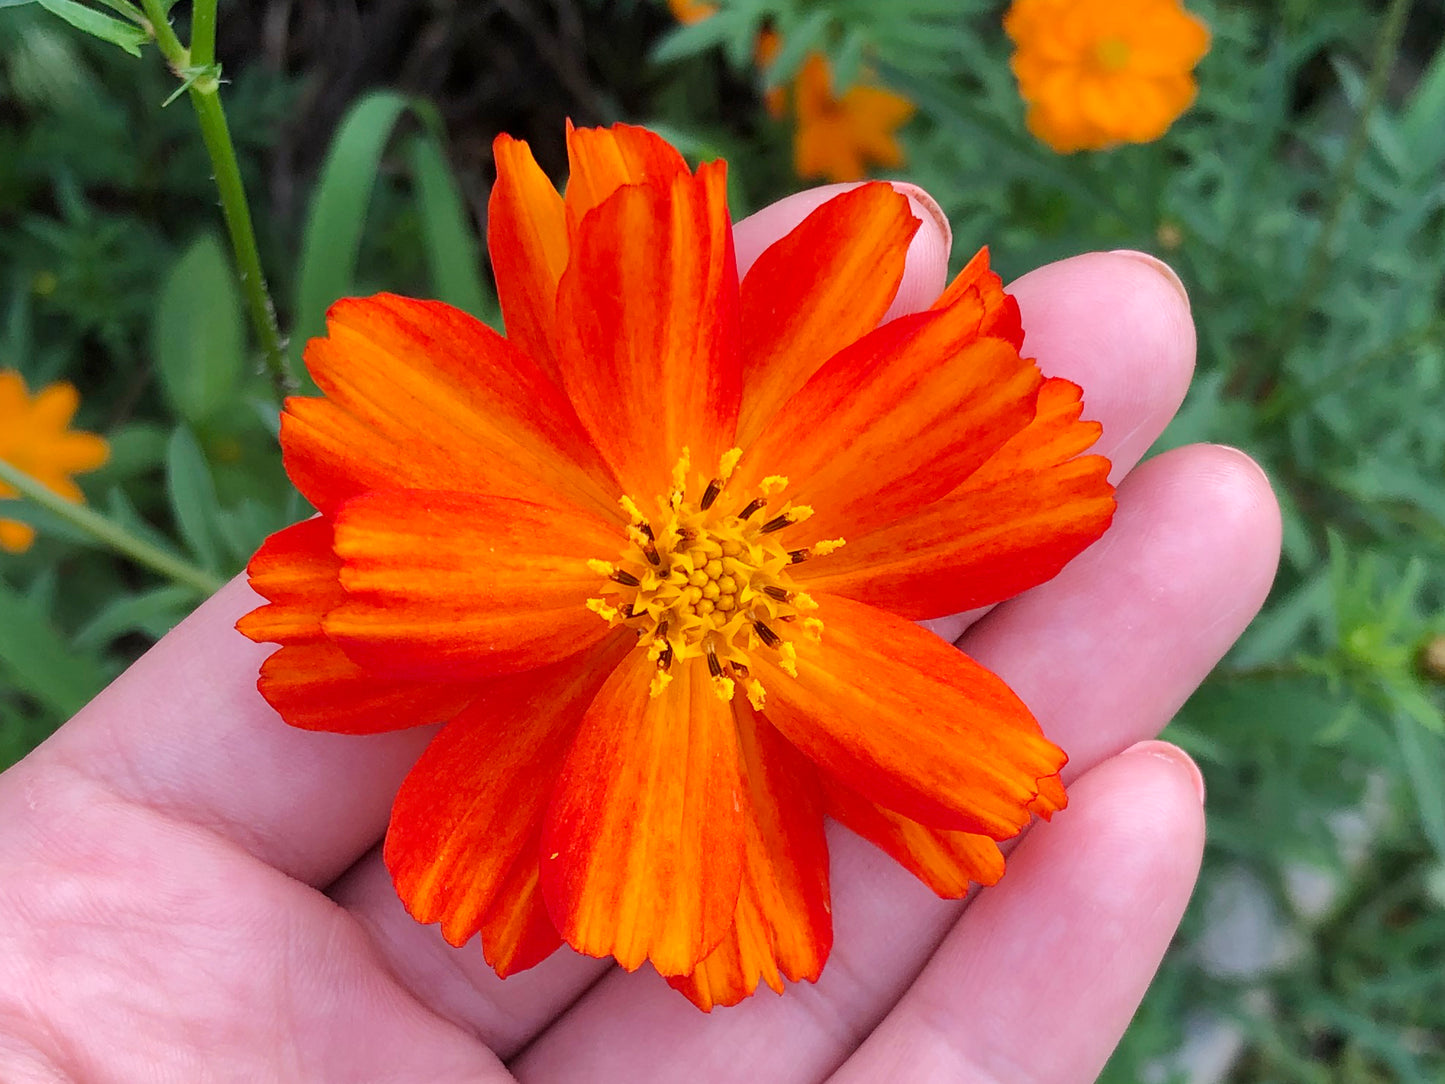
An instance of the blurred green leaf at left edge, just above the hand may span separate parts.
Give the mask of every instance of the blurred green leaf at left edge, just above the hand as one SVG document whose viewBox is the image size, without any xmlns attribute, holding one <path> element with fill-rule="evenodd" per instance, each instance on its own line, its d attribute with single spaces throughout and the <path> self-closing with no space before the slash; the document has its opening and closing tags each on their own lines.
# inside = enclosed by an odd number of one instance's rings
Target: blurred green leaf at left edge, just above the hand
<svg viewBox="0 0 1445 1084">
<path fill-rule="evenodd" d="M 9 684 L 62 718 L 85 707 L 111 676 L 98 659 L 74 652 L 51 620 L 4 581 L 0 581 L 0 671 Z"/>
</svg>

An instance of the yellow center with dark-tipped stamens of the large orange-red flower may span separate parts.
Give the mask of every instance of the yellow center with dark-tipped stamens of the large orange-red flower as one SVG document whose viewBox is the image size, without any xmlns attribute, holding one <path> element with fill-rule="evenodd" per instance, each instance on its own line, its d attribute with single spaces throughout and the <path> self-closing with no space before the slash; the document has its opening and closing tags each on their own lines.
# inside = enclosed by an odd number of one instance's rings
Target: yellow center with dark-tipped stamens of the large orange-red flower
<svg viewBox="0 0 1445 1084">
<path fill-rule="evenodd" d="M 785 674 L 796 676 L 792 635 L 819 637 L 818 604 L 799 591 L 790 571 L 814 556 L 827 556 L 842 539 L 790 549 L 785 532 L 812 515 L 806 504 L 769 507 L 788 489 L 788 478 L 764 478 L 756 494 L 730 494 L 727 481 L 743 452 L 727 452 L 712 478 L 698 476 L 688 493 L 688 451 L 672 471 L 672 491 L 657 499 L 656 516 L 644 516 L 623 497 L 631 523 L 621 559 L 591 561 L 605 577 L 603 595 L 590 610 L 637 633 L 637 646 L 657 663 L 652 695 L 672 679 L 669 671 L 686 659 L 705 659 L 718 697 L 731 700 L 743 685 L 753 707 L 763 707 L 763 685 L 750 656 L 772 653 Z"/>
</svg>

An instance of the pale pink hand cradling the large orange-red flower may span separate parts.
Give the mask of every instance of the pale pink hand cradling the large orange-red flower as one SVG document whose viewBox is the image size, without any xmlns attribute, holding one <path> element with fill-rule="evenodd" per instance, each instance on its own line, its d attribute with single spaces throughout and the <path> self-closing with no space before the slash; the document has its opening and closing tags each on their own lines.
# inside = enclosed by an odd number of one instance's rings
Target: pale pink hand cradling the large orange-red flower
<svg viewBox="0 0 1445 1084">
<path fill-rule="evenodd" d="M 828 189 L 738 224 L 746 267 Z M 942 289 L 923 225 L 896 311 Z M 832 957 L 816 986 L 702 1015 L 650 970 L 564 950 L 500 981 L 402 909 L 379 841 L 432 728 L 286 727 L 256 692 L 270 650 L 207 601 L 0 776 L 0 1080 L 1090 1081 L 1183 912 L 1202 782 L 1152 740 L 1260 607 L 1279 554 L 1261 471 L 1199 445 L 1136 463 L 1194 367 L 1182 288 L 1137 254 L 1010 288 L 1025 353 L 1085 389 L 1118 515 L 1065 571 L 936 621 L 1069 753 L 1069 806 L 998 886 L 939 900 L 831 831 Z"/>
</svg>

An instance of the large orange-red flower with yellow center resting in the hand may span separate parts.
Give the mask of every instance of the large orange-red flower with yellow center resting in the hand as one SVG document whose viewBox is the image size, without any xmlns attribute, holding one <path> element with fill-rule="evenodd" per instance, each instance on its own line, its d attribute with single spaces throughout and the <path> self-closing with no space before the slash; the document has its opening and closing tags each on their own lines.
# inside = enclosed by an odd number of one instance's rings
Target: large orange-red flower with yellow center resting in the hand
<svg viewBox="0 0 1445 1084">
<path fill-rule="evenodd" d="M 1056 572 L 1113 515 L 1079 389 L 964 269 L 879 327 L 918 221 L 887 185 L 738 283 L 725 165 L 568 132 L 565 198 L 496 142 L 509 335 L 341 301 L 282 445 L 316 519 L 250 564 L 290 724 L 444 721 L 392 811 L 407 909 L 507 976 L 562 942 L 709 1009 L 818 977 L 824 815 L 945 896 L 1064 805 L 1065 757 L 916 619 Z"/>
</svg>

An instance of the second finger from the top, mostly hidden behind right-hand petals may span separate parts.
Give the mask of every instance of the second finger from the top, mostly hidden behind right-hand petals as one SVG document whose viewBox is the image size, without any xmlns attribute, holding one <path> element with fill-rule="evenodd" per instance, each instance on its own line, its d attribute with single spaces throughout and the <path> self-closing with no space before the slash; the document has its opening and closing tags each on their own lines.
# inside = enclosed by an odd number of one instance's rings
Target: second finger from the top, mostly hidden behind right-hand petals
<svg viewBox="0 0 1445 1084">
<path fill-rule="evenodd" d="M 1178 276 L 1143 253 L 1088 253 L 1009 286 L 1023 314 L 1023 353 L 1084 389 L 1084 416 L 1103 425 L 1091 451 L 1123 478 L 1183 402 L 1195 334 Z M 923 621 L 957 640 L 985 611 Z"/>
</svg>

